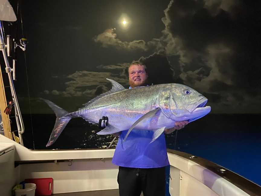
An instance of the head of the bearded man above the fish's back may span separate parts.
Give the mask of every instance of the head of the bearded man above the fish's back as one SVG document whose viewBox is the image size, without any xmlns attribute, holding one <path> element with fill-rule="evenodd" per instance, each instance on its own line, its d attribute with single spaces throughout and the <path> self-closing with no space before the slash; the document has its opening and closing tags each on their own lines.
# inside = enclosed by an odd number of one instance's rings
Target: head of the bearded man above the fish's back
<svg viewBox="0 0 261 196">
<path fill-rule="evenodd" d="M 129 84 L 131 88 L 147 85 L 147 73 L 142 65 L 131 65 L 129 68 Z"/>
</svg>

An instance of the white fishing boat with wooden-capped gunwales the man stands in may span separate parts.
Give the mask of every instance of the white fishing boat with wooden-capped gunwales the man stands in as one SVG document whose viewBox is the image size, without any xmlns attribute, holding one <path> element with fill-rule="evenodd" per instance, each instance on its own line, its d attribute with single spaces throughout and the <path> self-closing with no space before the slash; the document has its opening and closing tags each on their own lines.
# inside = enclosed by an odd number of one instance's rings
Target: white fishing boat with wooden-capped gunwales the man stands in
<svg viewBox="0 0 261 196">
<path fill-rule="evenodd" d="M 16 15 L 9 2 L 1 0 L 0 4 L 3 8 L 0 10 L 1 24 L 2 21 L 15 21 Z M 0 27 L 2 52 L 10 86 L 13 86 L 11 68 L 6 60 L 3 26 Z M 5 136 L 0 134 L 1 195 L 11 196 L 12 188 L 27 178 L 53 178 L 49 186 L 53 195 L 118 195 L 118 166 L 111 163 L 115 149 L 33 150 L 23 146 L 23 121 L 12 88 L 20 141 L 13 141 L 10 136 L 8 116 L 4 120 L 1 109 L 5 133 Z M 4 98 L 1 102 L 2 108 L 7 106 Z M 167 149 L 167 155 L 170 162 L 167 187 L 172 196 L 261 195 L 259 185 L 206 159 L 172 149 Z"/>
</svg>

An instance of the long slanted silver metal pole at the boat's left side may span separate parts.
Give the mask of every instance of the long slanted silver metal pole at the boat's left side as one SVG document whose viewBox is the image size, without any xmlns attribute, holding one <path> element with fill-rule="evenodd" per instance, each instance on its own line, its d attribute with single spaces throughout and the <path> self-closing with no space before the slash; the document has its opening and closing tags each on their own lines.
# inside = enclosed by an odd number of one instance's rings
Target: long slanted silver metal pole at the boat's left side
<svg viewBox="0 0 261 196">
<path fill-rule="evenodd" d="M 8 79 L 9 79 L 10 88 L 11 88 L 11 94 L 12 94 L 12 98 L 13 98 L 13 102 L 14 102 L 15 119 L 16 119 L 16 122 L 17 122 L 20 144 L 23 145 L 23 139 L 22 139 L 21 135 L 24 133 L 24 122 L 23 122 L 23 119 L 22 119 L 22 115 L 21 115 L 21 111 L 20 111 L 20 108 L 19 108 L 16 93 L 15 93 L 15 90 L 14 90 L 14 83 L 13 83 L 13 80 L 12 80 L 12 77 L 11 77 L 11 68 L 9 66 L 7 55 L 5 53 L 5 43 L 4 43 L 4 37 L 3 37 L 2 22 L 0 22 L 0 44 L 1 44 L 1 47 L 2 47 L 2 53 L 3 53 L 3 57 L 4 57 L 4 60 L 5 60 L 5 66 L 6 66 L 5 70 L 8 74 Z"/>
</svg>

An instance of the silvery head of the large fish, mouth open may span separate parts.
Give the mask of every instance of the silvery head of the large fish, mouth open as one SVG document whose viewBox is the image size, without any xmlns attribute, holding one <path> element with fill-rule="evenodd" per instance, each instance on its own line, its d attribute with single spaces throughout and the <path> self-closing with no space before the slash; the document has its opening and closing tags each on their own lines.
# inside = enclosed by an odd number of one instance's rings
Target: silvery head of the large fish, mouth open
<svg viewBox="0 0 261 196">
<path fill-rule="evenodd" d="M 208 99 L 191 87 L 183 84 L 172 84 L 169 96 L 168 115 L 175 121 L 192 122 L 207 115 L 210 106 L 205 106 Z"/>
</svg>

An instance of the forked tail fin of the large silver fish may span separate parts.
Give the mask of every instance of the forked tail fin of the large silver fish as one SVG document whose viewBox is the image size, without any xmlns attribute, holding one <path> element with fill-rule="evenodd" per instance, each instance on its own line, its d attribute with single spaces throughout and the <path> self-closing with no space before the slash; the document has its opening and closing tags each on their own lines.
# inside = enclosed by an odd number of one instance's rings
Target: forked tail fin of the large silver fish
<svg viewBox="0 0 261 196">
<path fill-rule="evenodd" d="M 60 136 L 63 129 L 66 127 L 66 125 L 72 119 L 73 115 L 72 115 L 72 113 L 67 112 L 66 110 L 60 108 L 55 103 L 53 103 L 49 100 L 45 100 L 45 99 L 42 99 L 42 98 L 41 98 L 41 100 L 46 102 L 48 104 L 48 106 L 50 106 L 50 108 L 54 111 L 54 113 L 56 115 L 55 125 L 54 125 L 53 131 L 50 135 L 50 139 L 49 139 L 49 141 L 46 145 L 46 147 L 48 147 L 48 146 L 52 145 L 56 141 L 56 139 Z"/>
</svg>

